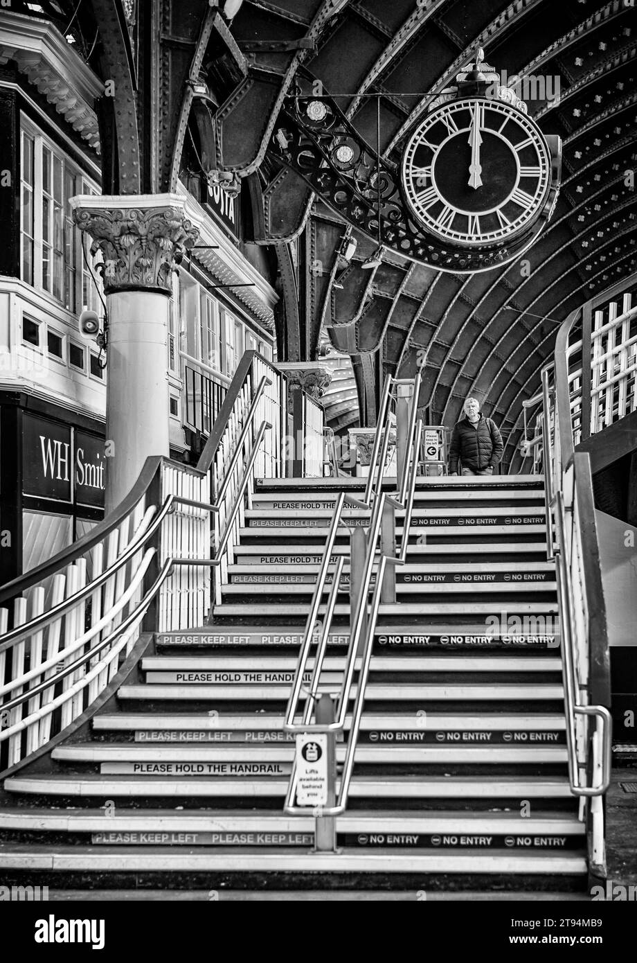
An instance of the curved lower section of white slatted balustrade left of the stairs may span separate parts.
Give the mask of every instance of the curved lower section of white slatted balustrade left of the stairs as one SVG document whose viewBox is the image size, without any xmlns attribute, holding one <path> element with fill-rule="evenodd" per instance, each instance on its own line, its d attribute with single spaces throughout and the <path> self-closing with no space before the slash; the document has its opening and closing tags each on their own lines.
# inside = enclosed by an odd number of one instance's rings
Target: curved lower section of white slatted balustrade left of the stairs
<svg viewBox="0 0 637 963">
<path fill-rule="evenodd" d="M 172 506 L 152 504 L 161 460 L 109 519 L 0 589 L 0 770 L 81 716 L 140 637 L 167 576 L 156 544 Z"/>
</svg>

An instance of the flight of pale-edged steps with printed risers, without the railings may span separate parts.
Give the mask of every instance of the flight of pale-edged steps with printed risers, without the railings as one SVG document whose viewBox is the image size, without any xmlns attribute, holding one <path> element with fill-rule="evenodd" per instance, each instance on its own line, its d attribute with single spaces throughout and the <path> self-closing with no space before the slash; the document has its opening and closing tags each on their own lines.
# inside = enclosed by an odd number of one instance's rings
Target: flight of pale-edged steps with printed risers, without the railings
<svg viewBox="0 0 637 963">
<path fill-rule="evenodd" d="M 417 483 L 396 602 L 375 628 L 341 852 L 312 853 L 312 816 L 282 813 L 284 712 L 335 492 L 332 479 L 258 481 L 210 622 L 158 634 L 86 733 L 56 746 L 46 770 L 5 780 L 5 865 L 11 853 L 16 869 L 79 886 L 95 872 L 123 887 L 168 872 L 204 887 L 259 873 L 281 887 L 335 874 L 360 886 L 363 873 L 368 886 L 398 874 L 414 889 L 585 885 L 537 478 Z M 335 561 L 348 526 L 368 520 L 344 510 Z M 327 692 L 349 641 L 348 567 Z"/>
</svg>

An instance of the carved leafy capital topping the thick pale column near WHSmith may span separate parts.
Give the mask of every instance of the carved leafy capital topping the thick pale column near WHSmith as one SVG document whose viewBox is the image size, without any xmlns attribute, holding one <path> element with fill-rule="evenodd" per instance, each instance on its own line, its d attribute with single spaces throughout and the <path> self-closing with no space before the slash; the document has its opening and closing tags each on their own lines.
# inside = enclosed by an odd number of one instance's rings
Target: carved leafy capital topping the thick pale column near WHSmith
<svg viewBox="0 0 637 963">
<path fill-rule="evenodd" d="M 184 212 L 184 198 L 163 195 L 78 195 L 71 197 L 73 220 L 101 250 L 106 294 L 156 291 L 169 295 L 170 272 L 199 228 Z"/>
</svg>

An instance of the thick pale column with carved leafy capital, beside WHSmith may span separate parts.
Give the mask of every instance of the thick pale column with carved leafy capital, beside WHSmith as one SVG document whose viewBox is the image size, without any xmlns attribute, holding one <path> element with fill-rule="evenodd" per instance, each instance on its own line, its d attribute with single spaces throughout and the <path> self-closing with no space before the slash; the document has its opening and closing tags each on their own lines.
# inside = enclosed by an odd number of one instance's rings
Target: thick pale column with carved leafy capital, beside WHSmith
<svg viewBox="0 0 637 963">
<path fill-rule="evenodd" d="M 167 335 L 171 272 L 198 228 L 178 195 L 71 198 L 73 219 L 102 251 L 108 307 L 106 510 L 148 455 L 168 455 Z"/>
</svg>

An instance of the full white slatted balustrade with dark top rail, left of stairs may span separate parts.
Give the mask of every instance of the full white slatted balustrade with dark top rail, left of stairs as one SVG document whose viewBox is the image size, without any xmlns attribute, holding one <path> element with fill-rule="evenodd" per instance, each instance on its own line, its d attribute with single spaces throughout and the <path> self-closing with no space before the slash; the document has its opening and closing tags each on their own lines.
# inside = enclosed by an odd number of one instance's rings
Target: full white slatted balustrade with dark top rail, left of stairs
<svg viewBox="0 0 637 963">
<path fill-rule="evenodd" d="M 94 711 L 144 636 L 204 624 L 255 473 L 285 475 L 287 421 L 286 377 L 246 351 L 196 467 L 147 458 L 104 521 L 0 587 L 0 772 Z"/>
</svg>

